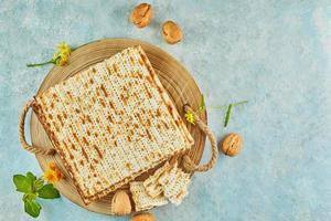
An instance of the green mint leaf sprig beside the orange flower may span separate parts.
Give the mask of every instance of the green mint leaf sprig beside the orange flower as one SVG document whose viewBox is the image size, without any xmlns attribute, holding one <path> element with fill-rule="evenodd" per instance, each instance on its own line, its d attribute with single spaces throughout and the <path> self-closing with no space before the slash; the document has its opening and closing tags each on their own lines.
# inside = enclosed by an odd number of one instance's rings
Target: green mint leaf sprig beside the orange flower
<svg viewBox="0 0 331 221">
<path fill-rule="evenodd" d="M 55 199 L 60 198 L 60 192 L 52 183 L 44 183 L 42 178 L 38 178 L 32 172 L 26 175 L 14 175 L 13 182 L 17 191 L 24 193 L 22 201 L 24 202 L 24 211 L 33 218 L 38 218 L 42 209 L 36 201 L 38 198 Z"/>
</svg>

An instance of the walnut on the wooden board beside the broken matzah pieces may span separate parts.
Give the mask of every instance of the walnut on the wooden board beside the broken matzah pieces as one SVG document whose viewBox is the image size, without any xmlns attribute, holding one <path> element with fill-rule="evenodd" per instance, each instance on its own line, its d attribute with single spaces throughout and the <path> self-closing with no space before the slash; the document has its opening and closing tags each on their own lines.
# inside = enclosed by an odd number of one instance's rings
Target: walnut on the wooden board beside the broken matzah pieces
<svg viewBox="0 0 331 221">
<path fill-rule="evenodd" d="M 119 190 L 114 194 L 110 211 L 116 215 L 125 215 L 131 212 L 130 198 L 126 191 Z"/>
</svg>

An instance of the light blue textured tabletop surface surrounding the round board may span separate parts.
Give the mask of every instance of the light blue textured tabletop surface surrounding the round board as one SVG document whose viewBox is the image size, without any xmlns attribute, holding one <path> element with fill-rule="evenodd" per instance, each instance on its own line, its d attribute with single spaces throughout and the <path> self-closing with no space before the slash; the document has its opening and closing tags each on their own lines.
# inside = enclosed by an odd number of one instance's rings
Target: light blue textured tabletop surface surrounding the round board
<svg viewBox="0 0 331 221">
<path fill-rule="evenodd" d="M 116 36 L 150 42 L 181 61 L 207 106 L 249 101 L 226 130 L 224 112 L 209 108 L 217 138 L 237 131 L 244 150 L 194 176 L 180 207 L 153 210 L 158 220 L 331 220 L 330 1 L 151 1 L 156 18 L 142 30 L 128 22 L 136 3 L 0 0 L 0 220 L 30 220 L 11 179 L 41 172 L 21 149 L 17 125 L 51 66 L 25 63 L 47 60 L 61 41 L 77 46 Z M 183 42 L 162 41 L 167 19 L 181 24 Z M 88 212 L 65 198 L 42 206 L 40 220 L 128 219 Z"/>
</svg>

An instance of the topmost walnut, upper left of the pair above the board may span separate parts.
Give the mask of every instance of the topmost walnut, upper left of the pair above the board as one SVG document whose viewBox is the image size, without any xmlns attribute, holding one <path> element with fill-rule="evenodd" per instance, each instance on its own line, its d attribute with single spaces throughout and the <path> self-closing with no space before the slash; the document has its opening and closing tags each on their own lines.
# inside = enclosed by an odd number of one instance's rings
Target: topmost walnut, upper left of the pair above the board
<svg viewBox="0 0 331 221">
<path fill-rule="evenodd" d="M 153 15 L 153 9 L 149 3 L 138 4 L 130 14 L 130 21 L 138 28 L 147 27 Z"/>
</svg>

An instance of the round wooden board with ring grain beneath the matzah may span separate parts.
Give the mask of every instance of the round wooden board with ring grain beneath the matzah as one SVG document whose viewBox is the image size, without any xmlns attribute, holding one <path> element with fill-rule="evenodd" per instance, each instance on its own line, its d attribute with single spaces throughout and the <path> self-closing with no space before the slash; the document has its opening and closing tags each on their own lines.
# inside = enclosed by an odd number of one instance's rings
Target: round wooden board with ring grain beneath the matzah
<svg viewBox="0 0 331 221">
<path fill-rule="evenodd" d="M 190 104 L 193 109 L 197 109 L 202 95 L 189 72 L 177 60 L 161 49 L 149 43 L 131 39 L 104 39 L 77 48 L 73 51 L 67 65 L 54 66 L 50 71 L 40 86 L 38 94 L 43 93 L 46 88 L 77 74 L 82 70 L 85 70 L 93 64 L 104 61 L 105 59 L 116 54 L 117 52 L 120 52 L 126 48 L 138 44 L 140 44 L 147 53 L 148 59 L 156 70 L 161 83 L 177 105 L 180 115 L 183 116 L 184 104 Z M 202 113 L 201 117 L 206 122 L 206 113 Z M 52 143 L 50 141 L 34 113 L 32 113 L 30 126 L 32 144 L 43 148 L 51 148 Z M 188 125 L 188 128 L 195 140 L 195 145 L 190 150 L 189 156 L 197 164 L 200 162 L 203 154 L 205 135 L 199 128 L 192 127 L 191 125 Z M 50 161 L 55 161 L 64 171 L 66 178 L 55 185 L 62 196 L 66 197 L 76 204 L 86 208 L 87 210 L 111 214 L 110 203 L 113 193 L 109 193 L 105 198 L 85 206 L 77 190 L 75 189 L 72 179 L 65 171 L 61 158 L 57 155 L 36 155 L 36 159 L 43 170 L 46 169 Z M 137 179 L 143 180 L 149 173 L 151 173 L 151 171 L 146 172 Z M 121 189 L 129 191 L 128 186 L 125 186 Z"/>
</svg>

